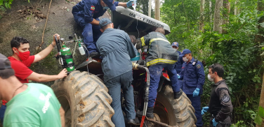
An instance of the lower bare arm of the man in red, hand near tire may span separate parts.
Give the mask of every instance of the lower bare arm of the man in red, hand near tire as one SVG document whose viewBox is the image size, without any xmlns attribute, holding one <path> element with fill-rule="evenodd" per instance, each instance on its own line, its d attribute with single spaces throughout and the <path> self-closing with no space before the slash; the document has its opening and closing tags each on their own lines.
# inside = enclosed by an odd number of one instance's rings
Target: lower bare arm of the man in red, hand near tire
<svg viewBox="0 0 264 127">
<path fill-rule="evenodd" d="M 36 82 L 51 82 L 54 80 L 59 80 L 62 79 L 63 77 L 67 76 L 67 70 L 63 69 L 60 71 L 58 75 L 44 75 L 44 74 L 39 74 L 39 73 L 32 73 L 27 77 L 27 80 L 32 80 Z"/>
</svg>

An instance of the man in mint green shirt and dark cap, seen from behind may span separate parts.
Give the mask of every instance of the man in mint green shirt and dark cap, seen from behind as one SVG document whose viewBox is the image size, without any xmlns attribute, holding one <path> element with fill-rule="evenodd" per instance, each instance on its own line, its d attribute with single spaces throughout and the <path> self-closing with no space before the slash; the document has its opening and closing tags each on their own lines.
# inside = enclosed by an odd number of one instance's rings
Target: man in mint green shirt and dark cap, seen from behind
<svg viewBox="0 0 264 127">
<path fill-rule="evenodd" d="M 65 112 L 44 84 L 22 84 L 10 61 L 0 54 L 0 100 L 6 100 L 4 127 L 65 126 Z"/>
</svg>

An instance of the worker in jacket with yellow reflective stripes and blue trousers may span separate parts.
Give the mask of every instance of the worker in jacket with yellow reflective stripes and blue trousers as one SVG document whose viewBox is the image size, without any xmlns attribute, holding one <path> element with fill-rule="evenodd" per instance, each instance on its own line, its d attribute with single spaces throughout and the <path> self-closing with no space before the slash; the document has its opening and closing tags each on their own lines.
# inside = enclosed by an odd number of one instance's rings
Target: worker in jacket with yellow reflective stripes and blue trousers
<svg viewBox="0 0 264 127">
<path fill-rule="evenodd" d="M 146 117 L 153 119 L 154 103 L 157 98 L 157 89 L 159 87 L 159 80 L 162 75 L 163 68 L 167 70 L 169 78 L 171 80 L 172 89 L 174 92 L 174 98 L 177 99 L 183 94 L 180 87 L 177 84 L 178 77 L 177 72 L 174 69 L 174 65 L 178 60 L 178 52 L 173 50 L 171 43 L 164 36 L 165 30 L 161 27 L 155 31 L 148 33 L 146 36 L 140 38 L 140 43 L 136 45 L 137 49 L 148 45 L 146 66 L 150 71 L 150 93 L 147 104 Z M 143 111 L 137 112 L 138 117 L 143 116 Z"/>
</svg>

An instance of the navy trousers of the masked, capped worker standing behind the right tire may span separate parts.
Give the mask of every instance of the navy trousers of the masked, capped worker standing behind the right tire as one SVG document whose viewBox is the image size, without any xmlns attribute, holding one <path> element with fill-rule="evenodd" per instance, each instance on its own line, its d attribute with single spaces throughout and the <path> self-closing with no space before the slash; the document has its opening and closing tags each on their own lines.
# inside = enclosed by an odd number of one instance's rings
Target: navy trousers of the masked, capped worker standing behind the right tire
<svg viewBox="0 0 264 127">
<path fill-rule="evenodd" d="M 195 110 L 195 116 L 197 118 L 197 127 L 202 127 L 203 122 L 202 122 L 202 110 L 201 110 L 201 96 L 193 97 L 192 94 L 186 94 L 187 97 L 191 100 L 192 102 L 192 107 L 194 107 Z"/>
</svg>

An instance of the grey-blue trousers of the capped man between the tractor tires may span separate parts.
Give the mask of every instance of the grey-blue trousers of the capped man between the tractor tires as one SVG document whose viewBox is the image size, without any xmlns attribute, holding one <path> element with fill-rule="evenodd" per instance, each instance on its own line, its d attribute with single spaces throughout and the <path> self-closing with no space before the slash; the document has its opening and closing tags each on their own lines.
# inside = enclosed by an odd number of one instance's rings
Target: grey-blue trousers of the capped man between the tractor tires
<svg viewBox="0 0 264 127">
<path fill-rule="evenodd" d="M 105 82 L 105 86 L 108 88 L 108 94 L 110 94 L 113 100 L 111 103 L 111 107 L 114 109 L 112 122 L 116 127 L 125 126 L 124 115 L 121 110 L 121 89 L 123 90 L 124 98 L 126 100 L 124 111 L 126 113 L 126 119 L 136 118 L 132 81 L 133 74 L 132 70 L 130 70 L 127 73 L 114 77 L 111 80 Z"/>
</svg>

